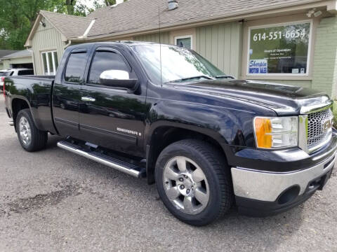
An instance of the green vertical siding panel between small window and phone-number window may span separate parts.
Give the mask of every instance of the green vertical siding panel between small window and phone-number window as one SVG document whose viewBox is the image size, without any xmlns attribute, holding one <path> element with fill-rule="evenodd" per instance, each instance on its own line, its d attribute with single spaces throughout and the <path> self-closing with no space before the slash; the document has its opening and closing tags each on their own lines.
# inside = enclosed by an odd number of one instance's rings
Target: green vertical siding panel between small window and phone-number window
<svg viewBox="0 0 337 252">
<path fill-rule="evenodd" d="M 196 51 L 227 74 L 241 71 L 242 25 L 232 22 L 197 28 Z"/>
</svg>

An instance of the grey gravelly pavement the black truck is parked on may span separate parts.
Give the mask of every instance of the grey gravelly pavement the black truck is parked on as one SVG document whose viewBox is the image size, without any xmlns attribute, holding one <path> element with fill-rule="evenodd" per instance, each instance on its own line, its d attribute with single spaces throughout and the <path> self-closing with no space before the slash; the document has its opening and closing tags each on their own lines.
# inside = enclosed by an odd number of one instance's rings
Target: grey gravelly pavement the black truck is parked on
<svg viewBox="0 0 337 252">
<path fill-rule="evenodd" d="M 337 177 L 305 204 L 269 218 L 235 209 L 194 228 L 155 186 L 56 147 L 27 153 L 0 98 L 0 251 L 337 251 Z"/>
</svg>

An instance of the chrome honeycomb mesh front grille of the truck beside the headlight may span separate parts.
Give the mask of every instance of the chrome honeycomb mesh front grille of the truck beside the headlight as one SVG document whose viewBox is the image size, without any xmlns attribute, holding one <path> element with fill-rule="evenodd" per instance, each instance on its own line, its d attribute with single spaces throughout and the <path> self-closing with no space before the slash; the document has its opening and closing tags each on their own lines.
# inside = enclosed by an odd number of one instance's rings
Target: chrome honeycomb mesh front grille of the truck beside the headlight
<svg viewBox="0 0 337 252">
<path fill-rule="evenodd" d="M 308 114 L 308 148 L 315 147 L 331 137 L 331 129 L 324 130 L 323 124 L 333 117 L 331 109 Z"/>
</svg>

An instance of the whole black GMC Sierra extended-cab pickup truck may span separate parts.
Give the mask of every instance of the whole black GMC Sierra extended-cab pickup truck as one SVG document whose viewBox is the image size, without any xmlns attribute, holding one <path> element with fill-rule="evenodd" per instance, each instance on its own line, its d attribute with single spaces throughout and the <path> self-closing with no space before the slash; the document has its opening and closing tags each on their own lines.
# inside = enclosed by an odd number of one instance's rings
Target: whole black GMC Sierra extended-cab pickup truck
<svg viewBox="0 0 337 252">
<path fill-rule="evenodd" d="M 45 148 L 48 133 L 64 137 L 60 148 L 156 182 L 190 225 L 233 204 L 253 216 L 295 207 L 335 163 L 326 94 L 235 80 L 173 45 L 74 45 L 56 76 L 6 77 L 4 95 L 26 151 Z"/>
</svg>

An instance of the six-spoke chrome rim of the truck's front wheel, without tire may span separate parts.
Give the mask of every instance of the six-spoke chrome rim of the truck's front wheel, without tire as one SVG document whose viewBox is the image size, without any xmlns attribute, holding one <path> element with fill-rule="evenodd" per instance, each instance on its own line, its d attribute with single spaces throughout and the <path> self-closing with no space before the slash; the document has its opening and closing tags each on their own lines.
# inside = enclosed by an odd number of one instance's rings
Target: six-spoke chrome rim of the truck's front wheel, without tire
<svg viewBox="0 0 337 252">
<path fill-rule="evenodd" d="M 209 203 L 206 176 L 189 158 L 180 156 L 169 160 L 164 167 L 163 183 L 169 200 L 185 214 L 199 214 Z"/>
</svg>

